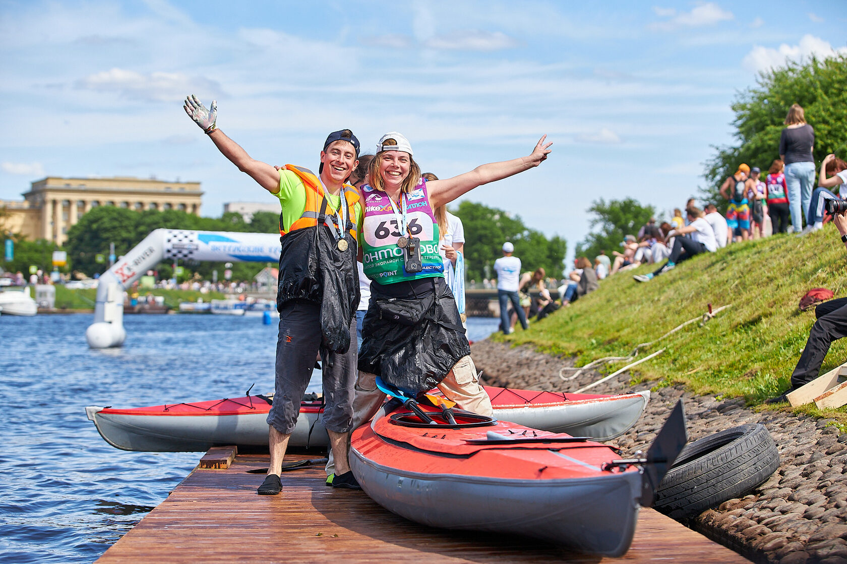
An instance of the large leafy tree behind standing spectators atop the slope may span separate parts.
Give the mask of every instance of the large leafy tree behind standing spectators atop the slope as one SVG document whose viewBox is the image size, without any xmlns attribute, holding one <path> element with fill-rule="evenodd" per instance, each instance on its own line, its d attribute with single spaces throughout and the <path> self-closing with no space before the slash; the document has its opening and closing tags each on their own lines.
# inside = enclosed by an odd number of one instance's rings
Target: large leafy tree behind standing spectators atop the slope
<svg viewBox="0 0 847 564">
<path fill-rule="evenodd" d="M 740 163 L 766 171 L 779 158 L 779 136 L 794 103 L 804 108 L 815 129 L 815 163 L 829 153 L 847 158 L 847 55 L 789 63 L 761 73 L 756 82 L 732 105 L 734 144 L 715 147 L 717 154 L 706 162 L 707 184 L 701 189 L 706 202 L 726 205 L 718 190 Z"/>
</svg>

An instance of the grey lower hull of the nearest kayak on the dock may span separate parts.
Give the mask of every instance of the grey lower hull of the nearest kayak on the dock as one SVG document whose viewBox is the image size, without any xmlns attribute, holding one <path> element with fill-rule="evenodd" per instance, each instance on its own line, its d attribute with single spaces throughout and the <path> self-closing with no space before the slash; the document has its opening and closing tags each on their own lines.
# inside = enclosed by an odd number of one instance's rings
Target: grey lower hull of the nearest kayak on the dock
<svg viewBox="0 0 847 564">
<path fill-rule="evenodd" d="M 432 527 L 518 534 L 621 556 L 638 520 L 640 473 L 551 480 L 412 473 L 380 466 L 355 445 L 350 466 L 380 506 Z"/>
</svg>

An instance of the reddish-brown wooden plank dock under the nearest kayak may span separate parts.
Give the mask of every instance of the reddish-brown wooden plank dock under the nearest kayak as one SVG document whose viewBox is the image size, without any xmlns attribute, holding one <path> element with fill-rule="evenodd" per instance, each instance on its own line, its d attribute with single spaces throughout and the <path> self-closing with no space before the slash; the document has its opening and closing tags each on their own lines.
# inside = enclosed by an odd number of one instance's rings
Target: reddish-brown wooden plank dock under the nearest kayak
<svg viewBox="0 0 847 564">
<path fill-rule="evenodd" d="M 412 523 L 361 491 L 326 487 L 322 466 L 283 473 L 281 495 L 257 495 L 263 475 L 248 471 L 267 466 L 267 454 L 240 454 L 224 469 L 197 467 L 98 562 L 749 562 L 651 509 L 641 510 L 625 556 L 590 556 Z"/>
</svg>

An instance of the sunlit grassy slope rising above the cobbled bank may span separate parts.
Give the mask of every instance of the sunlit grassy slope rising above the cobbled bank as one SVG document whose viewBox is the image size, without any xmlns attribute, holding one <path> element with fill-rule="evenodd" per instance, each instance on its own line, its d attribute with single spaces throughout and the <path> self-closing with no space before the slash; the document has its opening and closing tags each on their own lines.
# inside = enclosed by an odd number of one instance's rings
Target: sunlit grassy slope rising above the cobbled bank
<svg viewBox="0 0 847 564">
<path fill-rule="evenodd" d="M 814 312 L 798 309 L 800 297 L 817 287 L 833 290 L 836 297 L 847 295 L 844 264 L 844 245 L 832 224 L 805 237 L 737 243 L 694 257 L 646 284 L 635 282 L 632 274 L 650 272 L 653 265 L 616 274 L 528 331 L 500 338 L 577 355 L 582 365 L 626 356 L 635 345 L 703 314 L 708 302 L 715 308 L 731 303 L 705 326 L 692 323 L 642 349 L 639 357 L 667 348 L 634 368 L 631 377 L 684 383 L 699 394 L 744 396 L 760 403 L 788 387 L 815 321 Z M 847 339 L 836 341 L 822 372 L 845 359 Z M 608 372 L 621 367 L 617 363 Z"/>
</svg>

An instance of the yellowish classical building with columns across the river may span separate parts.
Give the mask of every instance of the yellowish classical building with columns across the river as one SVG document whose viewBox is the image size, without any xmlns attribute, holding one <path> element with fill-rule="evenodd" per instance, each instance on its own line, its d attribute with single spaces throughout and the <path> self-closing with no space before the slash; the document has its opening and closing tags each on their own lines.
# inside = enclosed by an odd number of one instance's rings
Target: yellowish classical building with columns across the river
<svg viewBox="0 0 847 564">
<path fill-rule="evenodd" d="M 47 239 L 64 245 L 68 229 L 97 206 L 134 209 L 177 209 L 200 215 L 199 182 L 166 182 L 133 177 L 59 178 L 33 182 L 24 201 L 0 200 L 3 230 L 32 240 Z"/>
</svg>

